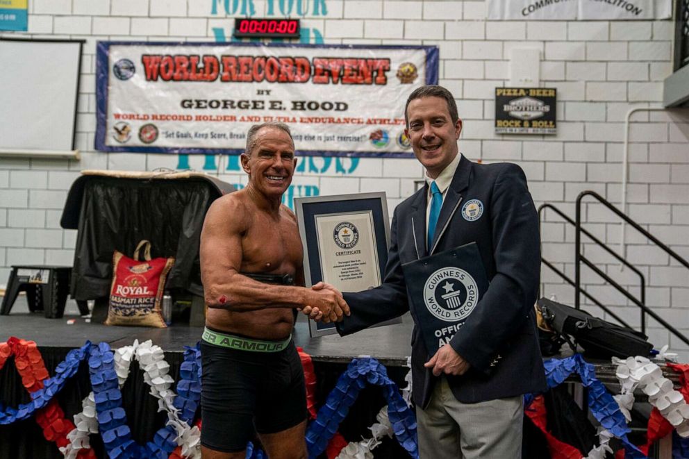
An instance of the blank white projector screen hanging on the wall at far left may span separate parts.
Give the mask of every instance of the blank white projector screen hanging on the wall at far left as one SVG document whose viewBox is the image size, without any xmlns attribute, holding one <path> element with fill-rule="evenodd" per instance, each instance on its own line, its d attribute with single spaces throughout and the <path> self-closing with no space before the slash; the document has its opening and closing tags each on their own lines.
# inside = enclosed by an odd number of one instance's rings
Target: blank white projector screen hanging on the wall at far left
<svg viewBox="0 0 689 459">
<path fill-rule="evenodd" d="M 0 39 L 0 150 L 74 150 L 82 43 Z"/>
</svg>

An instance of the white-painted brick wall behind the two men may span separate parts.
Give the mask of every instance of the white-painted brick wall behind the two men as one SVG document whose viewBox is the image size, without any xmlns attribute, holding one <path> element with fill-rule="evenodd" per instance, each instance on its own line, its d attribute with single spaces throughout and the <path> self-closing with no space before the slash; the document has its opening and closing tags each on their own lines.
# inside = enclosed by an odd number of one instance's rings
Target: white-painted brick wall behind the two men
<svg viewBox="0 0 689 459">
<path fill-rule="evenodd" d="M 267 15 L 267 1 L 247 3 L 253 4 L 257 16 Z M 292 17 L 301 14 L 297 3 L 284 2 L 285 7 L 294 7 Z M 303 25 L 316 28 L 326 43 L 437 45 L 440 83 L 454 92 L 465 122 L 460 149 L 467 157 L 486 162 L 517 162 L 529 178 L 536 203 L 555 203 L 574 217 L 574 201 L 583 190 L 595 190 L 617 205 L 622 201 L 624 121 L 631 108 L 661 106 L 662 82 L 672 72 L 672 21 L 487 21 L 482 0 L 324 0 L 328 10 L 324 16 L 313 15 L 314 2 L 307 3 Z M 228 5 L 232 8 L 233 2 Z M 281 14 L 279 5 L 273 2 L 276 15 Z M 95 41 L 212 41 L 213 28 L 218 27 L 229 37 L 233 15 L 226 13 L 222 0 L 215 2 L 215 14 L 212 8 L 213 1 L 197 0 L 32 0 L 28 33 L 3 33 L 85 38 L 87 43 L 76 136 L 81 160 L 0 160 L 0 285 L 6 283 L 13 263 L 71 264 L 76 231 L 63 230 L 59 220 L 67 190 L 81 169 L 151 170 L 177 165 L 175 156 L 94 151 Z M 495 134 L 495 87 L 508 84 L 511 50 L 525 47 L 542 51 L 541 84 L 558 90 L 556 135 Z M 629 214 L 689 256 L 687 110 L 638 112 L 629 138 Z M 422 178 L 422 167 L 411 159 L 344 158 L 339 169 L 334 161 L 325 167 L 322 158 L 301 161 L 306 169 L 295 176 L 294 185 L 315 187 L 319 194 L 383 190 L 391 212 L 413 192 L 413 182 Z M 192 156 L 189 162 L 197 170 L 206 164 L 202 156 Z M 216 164 L 221 178 L 246 183 L 242 173 L 225 170 L 228 158 L 220 157 Z M 343 174 L 342 168 L 348 172 Z M 584 216 L 592 233 L 617 244 L 620 225 L 609 210 L 590 204 Z M 572 228 L 548 212 L 542 240 L 545 256 L 573 275 Z M 689 274 L 630 228 L 626 241 L 629 259 L 649 275 L 649 304 L 689 334 Z M 586 253 L 613 277 L 636 285 L 609 256 L 595 253 L 592 247 Z M 590 272 L 582 274 L 591 292 L 617 305 L 616 312 L 638 324 L 638 311 L 629 301 L 610 292 Z M 547 268 L 542 282 L 545 294 L 572 302 L 572 288 Z M 650 326 L 654 327 L 649 330 L 651 340 L 658 340 L 658 346 L 670 342 L 686 349 L 657 324 Z"/>
</svg>

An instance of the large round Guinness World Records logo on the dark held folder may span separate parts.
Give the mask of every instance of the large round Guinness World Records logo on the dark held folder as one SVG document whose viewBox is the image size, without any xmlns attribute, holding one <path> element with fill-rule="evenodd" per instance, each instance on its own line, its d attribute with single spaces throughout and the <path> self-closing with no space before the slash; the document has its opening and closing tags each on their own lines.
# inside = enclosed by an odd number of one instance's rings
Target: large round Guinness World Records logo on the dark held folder
<svg viewBox="0 0 689 459">
<path fill-rule="evenodd" d="M 424 285 L 424 304 L 444 322 L 464 320 L 479 302 L 479 287 L 464 269 L 445 267 L 435 271 Z"/>
</svg>

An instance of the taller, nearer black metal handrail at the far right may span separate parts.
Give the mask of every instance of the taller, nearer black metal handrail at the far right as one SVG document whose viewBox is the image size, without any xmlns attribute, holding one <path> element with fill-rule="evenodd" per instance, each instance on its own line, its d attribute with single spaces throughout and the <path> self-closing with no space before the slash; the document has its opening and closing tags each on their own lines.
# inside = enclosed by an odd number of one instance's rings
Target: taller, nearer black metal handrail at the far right
<svg viewBox="0 0 689 459">
<path fill-rule="evenodd" d="M 653 310 L 649 309 L 646 304 L 645 304 L 645 299 L 642 301 L 637 301 L 633 297 L 631 297 L 631 294 L 621 287 L 619 284 L 615 283 L 612 281 L 612 279 L 601 272 L 600 269 L 597 267 L 593 267 L 592 263 L 583 257 L 581 255 L 581 233 L 583 233 L 583 229 L 581 228 L 581 201 L 583 200 L 584 197 L 586 196 L 591 196 L 594 197 L 599 203 L 603 204 L 606 206 L 609 210 L 611 210 L 617 217 L 620 217 L 624 222 L 629 224 L 632 228 L 634 228 L 636 231 L 647 237 L 647 239 L 651 240 L 656 244 L 656 246 L 659 249 L 662 249 L 667 253 L 668 255 L 672 256 L 677 262 L 679 262 L 681 265 L 689 269 L 689 262 L 679 256 L 674 250 L 670 249 L 670 247 L 667 247 L 663 242 L 658 240 L 657 237 L 646 231 L 644 228 L 640 226 L 640 224 L 634 222 L 631 218 L 627 217 L 624 215 L 624 212 L 613 206 L 609 201 L 607 201 L 604 197 L 602 197 L 600 194 L 598 194 L 595 191 L 592 190 L 586 190 L 581 193 L 579 193 L 579 196 L 576 197 L 576 219 L 574 223 L 574 246 L 575 246 L 575 251 L 574 251 L 574 307 L 576 309 L 579 309 L 581 307 L 581 262 L 584 262 L 588 267 L 592 268 L 596 274 L 599 276 L 603 277 L 608 283 L 613 285 L 613 287 L 617 288 L 622 294 L 624 294 L 627 298 L 629 298 L 636 306 L 638 306 L 641 309 L 641 331 L 642 333 L 645 333 L 645 328 L 646 328 L 646 314 L 650 315 L 654 319 L 656 319 L 658 322 L 660 322 L 661 325 L 665 326 L 667 330 L 671 331 L 674 333 L 676 337 L 678 337 L 680 340 L 685 342 L 686 344 L 689 344 L 689 339 L 684 336 L 682 333 L 676 330 L 672 325 L 668 324 L 664 319 L 659 317 Z"/>
</svg>

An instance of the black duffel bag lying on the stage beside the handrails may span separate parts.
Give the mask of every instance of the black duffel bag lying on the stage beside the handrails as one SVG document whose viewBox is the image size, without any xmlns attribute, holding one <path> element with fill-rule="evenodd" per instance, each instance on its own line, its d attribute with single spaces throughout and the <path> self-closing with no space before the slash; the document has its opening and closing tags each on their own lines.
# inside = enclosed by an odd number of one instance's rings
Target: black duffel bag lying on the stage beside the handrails
<svg viewBox="0 0 689 459">
<path fill-rule="evenodd" d="M 545 322 L 572 346 L 570 337 L 587 356 L 647 357 L 653 349 L 648 337 L 632 328 L 606 322 L 583 310 L 541 298 L 536 307 Z"/>
</svg>

